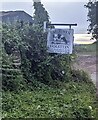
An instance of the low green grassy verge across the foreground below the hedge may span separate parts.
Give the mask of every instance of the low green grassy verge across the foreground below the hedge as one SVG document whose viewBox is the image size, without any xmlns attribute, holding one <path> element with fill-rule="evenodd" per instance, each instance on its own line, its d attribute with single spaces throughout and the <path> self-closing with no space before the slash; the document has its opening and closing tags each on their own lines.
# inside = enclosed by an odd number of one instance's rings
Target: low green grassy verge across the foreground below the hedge
<svg viewBox="0 0 98 120">
<path fill-rule="evenodd" d="M 61 88 L 3 92 L 4 118 L 93 118 L 96 116 L 92 83 L 67 82 Z"/>
</svg>

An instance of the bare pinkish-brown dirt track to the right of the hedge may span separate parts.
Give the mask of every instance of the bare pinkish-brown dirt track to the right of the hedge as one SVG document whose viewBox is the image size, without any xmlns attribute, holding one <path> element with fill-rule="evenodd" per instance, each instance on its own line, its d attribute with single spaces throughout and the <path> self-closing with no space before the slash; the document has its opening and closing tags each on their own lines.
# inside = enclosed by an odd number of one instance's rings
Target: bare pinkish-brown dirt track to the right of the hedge
<svg viewBox="0 0 98 120">
<path fill-rule="evenodd" d="M 76 63 L 74 67 L 76 69 L 83 69 L 90 76 L 94 84 L 96 85 L 96 56 L 95 55 L 77 55 Z"/>
</svg>

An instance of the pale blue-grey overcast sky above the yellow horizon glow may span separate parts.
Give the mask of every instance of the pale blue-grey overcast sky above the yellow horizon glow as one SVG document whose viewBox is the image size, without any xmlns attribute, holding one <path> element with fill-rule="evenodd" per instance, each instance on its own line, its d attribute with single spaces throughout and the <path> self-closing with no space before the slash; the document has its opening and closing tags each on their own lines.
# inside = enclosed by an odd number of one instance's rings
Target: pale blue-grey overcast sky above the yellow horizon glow
<svg viewBox="0 0 98 120">
<path fill-rule="evenodd" d="M 32 0 L 1 0 L 0 2 L 2 3 L 0 10 L 24 10 L 33 15 Z M 42 0 L 42 3 L 52 23 L 77 23 L 78 26 L 73 27 L 75 33 L 87 32 L 87 9 L 84 8 L 86 0 Z"/>
</svg>

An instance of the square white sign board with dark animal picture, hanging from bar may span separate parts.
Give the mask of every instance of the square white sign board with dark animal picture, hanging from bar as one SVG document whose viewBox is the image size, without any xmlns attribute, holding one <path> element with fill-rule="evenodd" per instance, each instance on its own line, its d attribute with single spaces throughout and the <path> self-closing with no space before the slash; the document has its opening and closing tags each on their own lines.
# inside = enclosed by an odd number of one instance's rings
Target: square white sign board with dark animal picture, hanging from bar
<svg viewBox="0 0 98 120">
<path fill-rule="evenodd" d="M 50 29 L 47 36 L 49 53 L 72 54 L 73 29 Z"/>
</svg>

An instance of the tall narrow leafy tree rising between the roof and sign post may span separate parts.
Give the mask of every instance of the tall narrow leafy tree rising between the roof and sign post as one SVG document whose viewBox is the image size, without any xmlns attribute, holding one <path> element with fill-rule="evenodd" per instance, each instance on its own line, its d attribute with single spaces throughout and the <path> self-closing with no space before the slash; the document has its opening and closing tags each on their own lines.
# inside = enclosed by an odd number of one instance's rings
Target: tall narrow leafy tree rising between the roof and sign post
<svg viewBox="0 0 98 120">
<path fill-rule="evenodd" d="M 34 0 L 34 24 L 43 26 L 44 21 L 49 22 L 48 12 L 43 7 L 40 1 L 35 2 Z"/>
</svg>

